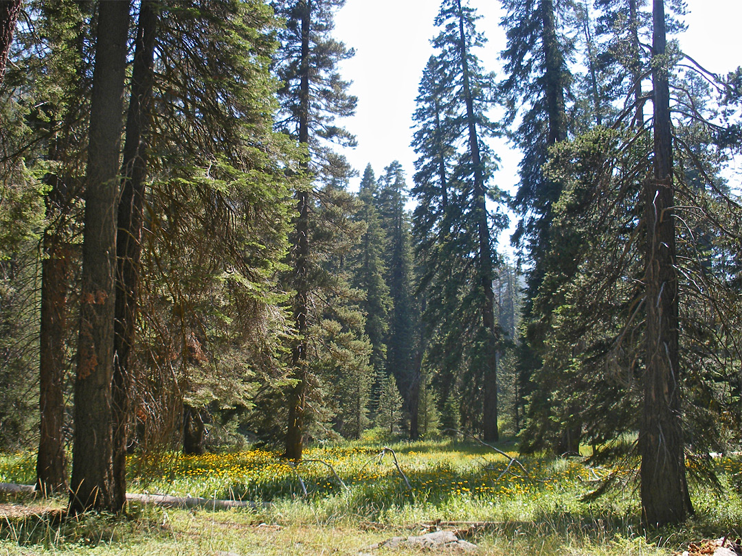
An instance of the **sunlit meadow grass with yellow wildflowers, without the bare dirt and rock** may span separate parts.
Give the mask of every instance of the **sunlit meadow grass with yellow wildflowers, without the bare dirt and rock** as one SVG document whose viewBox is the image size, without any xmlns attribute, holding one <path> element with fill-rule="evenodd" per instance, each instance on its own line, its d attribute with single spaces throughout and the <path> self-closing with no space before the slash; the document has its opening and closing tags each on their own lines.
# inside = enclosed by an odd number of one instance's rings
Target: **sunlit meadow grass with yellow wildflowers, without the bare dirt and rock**
<svg viewBox="0 0 742 556">
<path fill-rule="evenodd" d="M 697 517 L 680 528 L 647 534 L 640 524 L 638 486 L 631 477 L 623 477 L 617 488 L 596 501 L 580 501 L 613 471 L 609 467 L 594 468 L 582 458 L 519 457 L 524 472 L 518 466 L 507 469 L 508 458 L 474 443 L 448 440 L 390 447 L 410 482 L 409 489 L 392 455 L 381 457 L 381 446 L 343 443 L 310 448 L 305 451 L 306 461 L 296 467 L 281 460 L 278 452 L 261 449 L 202 456 L 137 455 L 128 461 L 128 490 L 250 500 L 255 502 L 254 509 L 223 512 L 218 520 L 278 523 L 294 535 L 332 530 L 340 537 L 352 537 L 353 543 L 378 540 L 392 532 L 416 532 L 437 520 L 462 526 L 478 522 L 481 526 L 473 530 L 473 540 L 486 554 L 667 554 L 700 537 L 742 536 L 739 458 L 715 461 L 718 492 L 708 486 L 693 487 Z M 323 463 L 309 460 L 328 463 L 339 480 Z M 5 455 L 0 458 L 0 481 L 33 483 L 34 466 L 29 454 Z M 158 543 L 157 551 L 168 553 L 163 547 L 174 537 L 164 535 L 163 530 L 173 528 L 180 542 L 178 535 L 191 535 L 194 523 L 213 525 L 217 519 L 214 512 L 204 511 L 134 507 L 129 511 L 134 521 L 88 520 L 62 529 L 51 525 L 44 529 L 34 522 L 33 527 L 24 525 L 26 529 L 5 526 L 4 532 L 16 543 L 22 543 L 24 531 L 27 537 L 44 536 L 48 546 L 57 548 L 83 537 L 124 543 L 146 535 Z M 240 543 L 242 537 L 235 535 L 234 543 Z M 341 538 L 332 538 L 342 544 Z M 251 550 L 263 553 L 262 545 L 256 543 L 259 549 Z M 177 553 L 191 554 L 186 550 Z M 278 549 L 264 553 L 282 554 Z"/>
</svg>

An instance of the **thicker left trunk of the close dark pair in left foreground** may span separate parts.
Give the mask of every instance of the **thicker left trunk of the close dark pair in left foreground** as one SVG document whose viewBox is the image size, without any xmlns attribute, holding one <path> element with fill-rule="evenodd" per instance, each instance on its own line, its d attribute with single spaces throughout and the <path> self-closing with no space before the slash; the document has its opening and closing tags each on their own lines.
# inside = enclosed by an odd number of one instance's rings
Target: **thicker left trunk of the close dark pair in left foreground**
<svg viewBox="0 0 742 556">
<path fill-rule="evenodd" d="M 70 512 L 120 512 L 114 492 L 111 381 L 114 364 L 116 207 L 129 22 L 128 1 L 98 4 L 85 235 L 75 379 Z"/>
</svg>

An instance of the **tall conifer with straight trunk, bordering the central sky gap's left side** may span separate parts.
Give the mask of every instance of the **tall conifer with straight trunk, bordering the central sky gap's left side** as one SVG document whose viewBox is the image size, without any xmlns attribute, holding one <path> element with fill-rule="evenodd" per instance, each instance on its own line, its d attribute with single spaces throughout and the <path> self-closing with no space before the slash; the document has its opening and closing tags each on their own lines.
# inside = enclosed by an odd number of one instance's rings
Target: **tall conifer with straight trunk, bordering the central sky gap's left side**
<svg viewBox="0 0 742 556">
<path fill-rule="evenodd" d="M 289 390 L 288 428 L 285 456 L 300 460 L 303 435 L 308 419 L 309 328 L 316 316 L 312 311 L 312 256 L 309 242 L 312 212 L 317 199 L 315 180 L 342 179 L 349 173 L 344 158 L 332 152 L 328 142 L 353 145 L 355 139 L 335 125 L 338 116 L 349 116 L 356 99 L 347 93 L 347 82 L 338 74 L 337 64 L 352 56 L 344 44 L 335 41 L 332 17 L 344 0 L 284 0 L 275 2 L 277 12 L 286 18 L 281 33 L 281 49 L 276 73 L 282 82 L 278 128 L 298 141 L 306 150 L 301 164 L 304 183 L 296 192 L 295 233 L 292 239 L 294 269 L 292 288 L 296 340 L 292 346 L 292 380 Z"/>
</svg>

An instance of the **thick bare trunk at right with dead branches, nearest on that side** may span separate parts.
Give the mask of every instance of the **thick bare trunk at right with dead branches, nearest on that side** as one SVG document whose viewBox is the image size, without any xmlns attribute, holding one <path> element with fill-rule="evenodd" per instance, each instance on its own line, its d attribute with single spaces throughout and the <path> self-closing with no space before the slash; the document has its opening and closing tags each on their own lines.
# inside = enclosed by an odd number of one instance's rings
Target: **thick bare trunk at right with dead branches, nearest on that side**
<svg viewBox="0 0 742 556">
<path fill-rule="evenodd" d="M 665 53 L 663 0 L 654 0 L 654 56 Z M 679 523 L 693 513 L 686 483 L 680 419 L 678 288 L 672 214 L 672 127 L 668 73 L 654 67 L 654 180 L 645 187 L 646 376 L 639 449 L 641 499 L 647 524 Z"/>
</svg>

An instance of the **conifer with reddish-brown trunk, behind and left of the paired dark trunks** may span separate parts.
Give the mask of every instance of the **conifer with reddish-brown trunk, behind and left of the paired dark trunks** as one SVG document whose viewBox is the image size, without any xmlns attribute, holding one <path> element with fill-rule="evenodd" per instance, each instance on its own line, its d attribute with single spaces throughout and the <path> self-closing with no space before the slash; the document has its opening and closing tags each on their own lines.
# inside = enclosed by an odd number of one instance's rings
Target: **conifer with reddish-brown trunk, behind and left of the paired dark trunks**
<svg viewBox="0 0 742 556">
<path fill-rule="evenodd" d="M 66 490 L 65 372 L 73 349 L 68 316 L 70 289 L 79 266 L 73 234 L 81 216 L 76 208 L 85 166 L 82 129 L 89 113 L 86 76 L 91 44 L 91 9 L 81 4 L 31 7 L 33 32 L 16 37 L 13 82 L 33 79 L 30 128 L 39 145 L 39 161 L 47 165 L 43 182 L 47 224 L 43 231 L 41 306 L 39 310 L 39 451 L 36 485 L 44 495 Z M 39 41 L 46 45 L 39 56 Z"/>
</svg>

